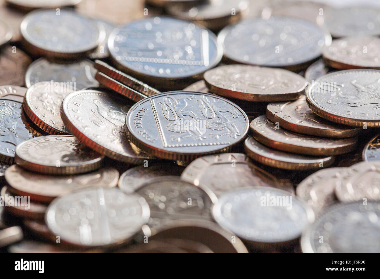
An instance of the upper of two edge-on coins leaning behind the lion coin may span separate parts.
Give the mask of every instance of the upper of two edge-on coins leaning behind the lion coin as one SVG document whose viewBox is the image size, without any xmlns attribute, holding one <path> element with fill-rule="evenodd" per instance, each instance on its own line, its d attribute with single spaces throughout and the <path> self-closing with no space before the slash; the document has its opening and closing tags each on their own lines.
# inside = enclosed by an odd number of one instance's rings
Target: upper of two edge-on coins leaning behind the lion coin
<svg viewBox="0 0 380 279">
<path fill-rule="evenodd" d="M 126 85 L 127 87 L 130 87 L 130 88 L 142 93 L 143 95 L 152 96 L 152 95 L 161 93 L 157 89 L 150 87 L 149 85 L 144 84 L 140 80 L 137 80 L 134 77 L 131 77 L 131 76 L 109 66 L 107 63 L 105 63 L 103 61 L 95 60 L 94 67 L 99 72 L 105 74 L 108 77 L 111 77 L 114 80 L 117 80 L 118 82 Z"/>
</svg>

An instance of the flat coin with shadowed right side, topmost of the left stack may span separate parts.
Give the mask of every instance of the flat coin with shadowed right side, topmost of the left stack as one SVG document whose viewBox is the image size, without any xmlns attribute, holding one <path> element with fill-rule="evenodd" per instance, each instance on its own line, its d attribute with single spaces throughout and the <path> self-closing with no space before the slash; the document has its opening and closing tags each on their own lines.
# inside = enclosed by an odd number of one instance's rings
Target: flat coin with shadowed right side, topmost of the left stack
<svg viewBox="0 0 380 279">
<path fill-rule="evenodd" d="M 17 145 L 15 162 L 32 172 L 68 175 L 97 170 L 103 158 L 74 136 L 44 136 Z"/>
</svg>

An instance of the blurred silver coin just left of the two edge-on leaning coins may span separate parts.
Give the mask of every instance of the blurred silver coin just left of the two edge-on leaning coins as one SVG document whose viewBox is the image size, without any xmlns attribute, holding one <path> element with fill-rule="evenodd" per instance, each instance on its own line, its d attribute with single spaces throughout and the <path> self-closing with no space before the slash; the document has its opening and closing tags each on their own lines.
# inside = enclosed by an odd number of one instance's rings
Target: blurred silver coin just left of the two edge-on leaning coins
<svg viewBox="0 0 380 279">
<path fill-rule="evenodd" d="M 54 88 L 73 88 L 81 90 L 87 87 L 98 87 L 95 80 L 96 69 L 90 60 L 53 62 L 40 58 L 28 67 L 25 84 L 31 87 L 37 82 L 51 82 Z"/>
</svg>

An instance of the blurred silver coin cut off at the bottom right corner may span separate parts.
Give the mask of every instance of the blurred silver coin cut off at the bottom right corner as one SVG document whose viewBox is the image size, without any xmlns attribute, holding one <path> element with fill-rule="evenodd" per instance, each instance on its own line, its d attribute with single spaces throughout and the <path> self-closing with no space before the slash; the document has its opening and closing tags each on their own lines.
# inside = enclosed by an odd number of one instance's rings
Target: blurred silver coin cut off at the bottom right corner
<svg viewBox="0 0 380 279">
<path fill-rule="evenodd" d="M 302 252 L 378 253 L 379 214 L 380 202 L 368 202 L 366 205 L 363 202 L 338 203 L 330 206 L 302 234 Z"/>
</svg>

